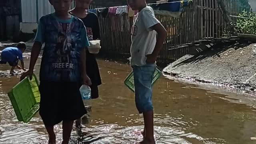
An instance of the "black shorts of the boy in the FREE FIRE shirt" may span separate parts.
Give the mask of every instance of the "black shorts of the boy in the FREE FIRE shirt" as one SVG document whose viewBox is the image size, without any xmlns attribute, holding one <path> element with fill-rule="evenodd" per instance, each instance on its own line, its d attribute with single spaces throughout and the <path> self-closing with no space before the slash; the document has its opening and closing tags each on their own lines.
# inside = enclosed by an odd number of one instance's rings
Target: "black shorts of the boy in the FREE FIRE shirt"
<svg viewBox="0 0 256 144">
<path fill-rule="evenodd" d="M 86 114 L 76 82 L 40 82 L 40 116 L 46 126 L 73 121 Z"/>
</svg>

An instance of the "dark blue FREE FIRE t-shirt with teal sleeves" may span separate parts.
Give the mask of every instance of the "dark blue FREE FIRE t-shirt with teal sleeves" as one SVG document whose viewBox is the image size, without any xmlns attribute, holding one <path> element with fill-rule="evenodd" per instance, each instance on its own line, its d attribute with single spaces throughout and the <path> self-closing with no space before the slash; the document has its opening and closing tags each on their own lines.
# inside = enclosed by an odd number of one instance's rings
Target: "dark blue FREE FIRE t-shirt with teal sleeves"
<svg viewBox="0 0 256 144">
<path fill-rule="evenodd" d="M 40 81 L 80 82 L 80 51 L 90 46 L 82 20 L 42 16 L 35 41 L 45 44 Z"/>
</svg>

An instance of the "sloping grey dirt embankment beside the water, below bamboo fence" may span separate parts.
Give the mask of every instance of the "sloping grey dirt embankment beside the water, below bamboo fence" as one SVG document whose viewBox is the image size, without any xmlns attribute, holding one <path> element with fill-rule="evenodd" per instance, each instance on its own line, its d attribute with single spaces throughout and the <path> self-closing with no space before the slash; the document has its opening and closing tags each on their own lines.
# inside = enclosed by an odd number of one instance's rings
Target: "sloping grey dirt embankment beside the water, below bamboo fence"
<svg viewBox="0 0 256 144">
<path fill-rule="evenodd" d="M 164 69 L 174 78 L 210 83 L 255 94 L 256 44 L 218 45 L 186 55 Z"/>
</svg>

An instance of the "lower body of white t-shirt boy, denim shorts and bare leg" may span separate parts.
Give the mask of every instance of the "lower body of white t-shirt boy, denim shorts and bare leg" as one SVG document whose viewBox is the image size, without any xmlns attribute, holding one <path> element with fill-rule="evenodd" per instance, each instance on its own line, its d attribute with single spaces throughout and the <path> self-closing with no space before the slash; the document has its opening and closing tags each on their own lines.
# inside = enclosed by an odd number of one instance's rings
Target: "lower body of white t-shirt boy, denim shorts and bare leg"
<svg viewBox="0 0 256 144">
<path fill-rule="evenodd" d="M 152 80 L 156 66 L 133 67 L 135 84 L 135 102 L 140 113 L 144 115 L 144 140 L 141 144 L 154 144 L 154 124 L 152 106 Z"/>
</svg>

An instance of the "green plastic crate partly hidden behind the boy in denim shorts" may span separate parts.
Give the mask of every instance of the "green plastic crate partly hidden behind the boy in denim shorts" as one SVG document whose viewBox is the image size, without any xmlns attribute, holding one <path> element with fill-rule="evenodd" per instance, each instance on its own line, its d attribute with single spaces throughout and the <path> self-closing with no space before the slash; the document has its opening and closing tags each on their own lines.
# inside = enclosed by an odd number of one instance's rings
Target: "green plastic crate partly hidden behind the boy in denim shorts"
<svg viewBox="0 0 256 144">
<path fill-rule="evenodd" d="M 158 80 L 158 78 L 160 78 L 161 76 L 161 71 L 158 70 L 158 68 L 156 68 L 156 71 L 154 73 L 154 78 L 152 81 L 152 84 L 154 84 L 156 82 L 156 80 Z M 124 80 L 124 84 L 133 92 L 135 91 L 135 87 L 134 87 L 134 78 L 133 78 L 133 72 L 131 72 L 127 78 Z"/>
</svg>

